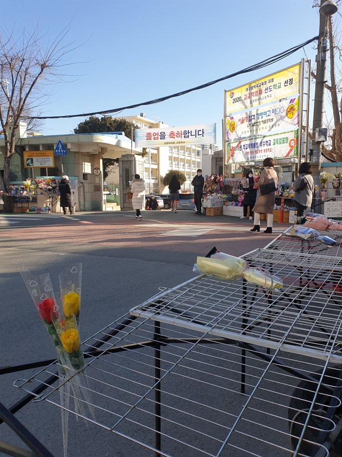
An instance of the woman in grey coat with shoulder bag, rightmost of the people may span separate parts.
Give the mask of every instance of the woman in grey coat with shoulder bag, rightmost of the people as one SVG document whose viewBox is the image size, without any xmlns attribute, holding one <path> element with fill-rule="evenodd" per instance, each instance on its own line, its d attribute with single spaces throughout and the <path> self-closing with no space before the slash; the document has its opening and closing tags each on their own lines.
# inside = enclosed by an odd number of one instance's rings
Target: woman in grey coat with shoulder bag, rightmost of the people
<svg viewBox="0 0 342 457">
<path fill-rule="evenodd" d="M 304 211 L 312 204 L 314 182 L 311 174 L 311 164 L 303 162 L 299 167 L 299 175 L 292 185 L 295 191 L 293 200 L 297 208 L 297 224 L 301 223 Z"/>
</svg>

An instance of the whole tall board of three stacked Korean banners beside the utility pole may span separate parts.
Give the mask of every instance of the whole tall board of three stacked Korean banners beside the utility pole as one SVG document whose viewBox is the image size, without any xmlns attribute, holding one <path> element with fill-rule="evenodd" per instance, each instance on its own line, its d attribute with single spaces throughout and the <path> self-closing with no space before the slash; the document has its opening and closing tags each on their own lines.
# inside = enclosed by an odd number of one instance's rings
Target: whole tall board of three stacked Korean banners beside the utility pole
<svg viewBox="0 0 342 457">
<path fill-rule="evenodd" d="M 297 157 L 301 64 L 225 91 L 226 163 Z"/>
</svg>

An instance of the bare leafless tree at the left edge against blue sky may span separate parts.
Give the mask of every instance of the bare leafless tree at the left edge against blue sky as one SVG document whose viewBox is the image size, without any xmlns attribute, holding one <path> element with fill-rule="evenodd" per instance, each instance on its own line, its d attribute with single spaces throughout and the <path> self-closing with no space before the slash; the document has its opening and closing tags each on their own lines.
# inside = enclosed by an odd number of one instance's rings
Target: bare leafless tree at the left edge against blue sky
<svg viewBox="0 0 342 457">
<path fill-rule="evenodd" d="M 0 190 L 4 192 L 10 187 L 10 162 L 19 122 L 41 110 L 54 84 L 67 81 L 70 54 L 79 47 L 75 42 L 64 44 L 69 30 L 70 24 L 49 42 L 38 24 L 32 30 L 0 28 L 0 130 L 5 137 Z"/>
</svg>

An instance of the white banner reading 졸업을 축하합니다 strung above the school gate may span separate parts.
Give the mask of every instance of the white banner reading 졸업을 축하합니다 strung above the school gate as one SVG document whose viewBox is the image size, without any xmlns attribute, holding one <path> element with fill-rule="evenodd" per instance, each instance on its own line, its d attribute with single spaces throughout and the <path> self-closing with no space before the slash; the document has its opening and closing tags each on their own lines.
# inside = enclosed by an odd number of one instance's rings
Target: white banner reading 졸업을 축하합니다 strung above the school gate
<svg viewBox="0 0 342 457">
<path fill-rule="evenodd" d="M 137 128 L 135 130 L 136 148 L 167 145 L 202 145 L 208 143 L 216 143 L 216 124 Z"/>
</svg>

